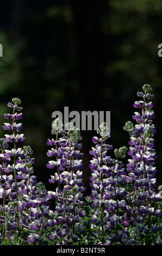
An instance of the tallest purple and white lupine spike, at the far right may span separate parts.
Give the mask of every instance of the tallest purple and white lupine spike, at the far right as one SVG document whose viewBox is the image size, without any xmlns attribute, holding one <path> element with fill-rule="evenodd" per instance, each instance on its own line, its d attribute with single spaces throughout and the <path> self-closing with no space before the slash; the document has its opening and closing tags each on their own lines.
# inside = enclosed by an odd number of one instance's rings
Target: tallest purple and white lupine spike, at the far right
<svg viewBox="0 0 162 256">
<path fill-rule="evenodd" d="M 152 208 L 153 200 L 161 201 L 158 194 L 155 193 L 155 174 L 157 170 L 154 167 L 154 160 L 157 156 L 155 155 L 153 139 L 155 127 L 152 124 L 155 115 L 152 111 L 152 102 L 147 103 L 147 99 L 152 99 L 153 95 L 149 93 L 151 87 L 148 84 L 145 84 L 143 90 L 144 93 L 138 92 L 138 96 L 143 97 L 144 101 L 135 101 L 134 103 L 135 108 L 141 108 L 141 113 L 135 112 L 135 115 L 133 115 L 133 119 L 136 120 L 137 124 L 133 127 L 129 121 L 124 126 L 124 130 L 127 130 L 130 135 L 128 155 L 132 157 L 132 160 L 128 160 L 129 163 L 127 164 L 130 178 L 126 176 L 124 180 L 126 182 L 130 180 L 128 202 L 132 200 L 133 211 L 135 210 L 136 212 L 133 218 L 135 217 L 139 223 L 138 229 L 141 237 L 145 237 L 142 234 L 143 231 L 145 234 L 149 233 L 151 215 L 155 215 L 156 212 Z M 153 210 L 150 211 L 149 209 Z M 142 224 L 142 218 L 146 216 L 148 218 L 148 226 Z M 153 226 L 152 230 L 156 233 L 157 227 Z"/>
</svg>

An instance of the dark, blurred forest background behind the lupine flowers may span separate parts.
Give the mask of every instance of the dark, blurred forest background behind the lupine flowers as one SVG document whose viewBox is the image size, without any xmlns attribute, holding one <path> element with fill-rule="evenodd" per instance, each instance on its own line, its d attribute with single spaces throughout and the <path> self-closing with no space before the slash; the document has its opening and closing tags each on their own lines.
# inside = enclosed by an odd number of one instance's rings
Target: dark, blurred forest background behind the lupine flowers
<svg viewBox="0 0 162 256">
<path fill-rule="evenodd" d="M 128 147 L 123 126 L 133 121 L 136 92 L 145 83 L 151 84 L 155 96 L 157 184 L 162 184 L 161 24 L 160 0 L 0 0 L 0 135 L 5 134 L 3 114 L 11 110 L 7 103 L 19 97 L 24 144 L 32 147 L 34 174 L 47 189 L 52 189 L 48 179 L 54 172 L 46 168 L 52 112 L 64 112 L 64 106 L 69 112 L 111 111 L 108 143 L 114 149 Z M 87 187 L 95 135 L 82 131 Z"/>
</svg>

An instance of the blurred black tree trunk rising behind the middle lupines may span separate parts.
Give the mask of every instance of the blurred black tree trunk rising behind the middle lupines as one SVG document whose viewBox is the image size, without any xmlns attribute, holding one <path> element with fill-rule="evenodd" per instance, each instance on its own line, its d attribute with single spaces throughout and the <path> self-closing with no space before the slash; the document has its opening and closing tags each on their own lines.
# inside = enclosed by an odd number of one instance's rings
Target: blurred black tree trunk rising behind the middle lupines
<svg viewBox="0 0 162 256">
<path fill-rule="evenodd" d="M 102 4 L 91 1 L 67 1 L 67 19 L 70 26 L 73 76 L 78 81 L 75 107 L 79 111 L 104 111 L 103 99 L 103 51 L 100 28 Z M 72 99 L 71 99 L 72 100 Z M 81 131 L 84 151 L 84 173 L 89 182 L 89 150 L 96 131 Z M 87 185 L 88 187 L 88 185 Z M 88 192 L 88 191 L 87 191 Z"/>
</svg>

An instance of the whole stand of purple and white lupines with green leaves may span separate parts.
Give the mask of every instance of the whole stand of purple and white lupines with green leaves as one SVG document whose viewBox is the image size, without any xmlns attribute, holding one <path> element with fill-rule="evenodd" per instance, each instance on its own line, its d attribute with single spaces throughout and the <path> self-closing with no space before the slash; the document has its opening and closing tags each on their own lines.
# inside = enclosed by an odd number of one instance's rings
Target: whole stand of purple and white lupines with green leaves
<svg viewBox="0 0 162 256">
<path fill-rule="evenodd" d="M 21 101 L 8 103 L 12 114 L 4 114 L 10 123 L 3 129 L 12 131 L 0 140 L 0 242 L 1 245 L 157 245 L 162 244 L 161 194 L 156 193 L 151 87 L 138 92 L 143 100 L 135 101 L 134 126 L 128 121 L 123 127 L 130 135 L 127 147 L 108 152 L 110 137 L 106 123 L 92 138 L 91 194 L 84 196 L 83 153 L 80 131 L 72 123 L 53 122 L 47 145 L 52 160 L 47 168 L 54 171 L 49 182 L 57 184 L 54 191 L 46 191 L 36 181 L 33 153 L 29 146 L 18 148 L 24 141 L 21 123 Z M 13 147 L 10 149 L 10 145 Z M 122 159 L 130 156 L 126 167 Z M 55 204 L 54 210 L 50 204 Z"/>
</svg>

